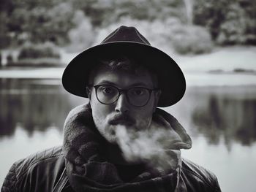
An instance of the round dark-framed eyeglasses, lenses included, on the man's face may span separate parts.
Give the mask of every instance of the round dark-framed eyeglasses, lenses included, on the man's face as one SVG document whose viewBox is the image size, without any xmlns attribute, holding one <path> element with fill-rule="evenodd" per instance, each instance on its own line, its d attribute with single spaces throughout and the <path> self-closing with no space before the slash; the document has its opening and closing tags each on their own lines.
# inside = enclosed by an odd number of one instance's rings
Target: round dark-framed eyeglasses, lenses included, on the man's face
<svg viewBox="0 0 256 192">
<path fill-rule="evenodd" d="M 97 99 L 102 104 L 113 104 L 121 93 L 124 93 L 129 104 L 135 107 L 143 107 L 148 104 L 152 91 L 157 90 L 143 87 L 119 89 L 113 85 L 95 85 L 94 88 Z"/>
</svg>

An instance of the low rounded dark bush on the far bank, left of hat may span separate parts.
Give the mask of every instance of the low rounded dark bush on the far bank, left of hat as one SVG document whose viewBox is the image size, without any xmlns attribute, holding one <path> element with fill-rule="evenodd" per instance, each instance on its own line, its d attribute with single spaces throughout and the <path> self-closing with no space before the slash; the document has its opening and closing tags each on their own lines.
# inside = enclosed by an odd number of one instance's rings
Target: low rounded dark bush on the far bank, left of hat
<svg viewBox="0 0 256 192">
<path fill-rule="evenodd" d="M 60 58 L 60 54 L 52 43 L 25 45 L 21 48 L 18 59 L 26 58 Z"/>
</svg>

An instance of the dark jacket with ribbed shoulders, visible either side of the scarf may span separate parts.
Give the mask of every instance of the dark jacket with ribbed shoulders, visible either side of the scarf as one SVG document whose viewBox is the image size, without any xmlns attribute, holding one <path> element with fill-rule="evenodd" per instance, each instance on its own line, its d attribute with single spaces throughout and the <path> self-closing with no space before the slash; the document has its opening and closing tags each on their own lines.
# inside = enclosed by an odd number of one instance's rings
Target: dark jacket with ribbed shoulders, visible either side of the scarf
<svg viewBox="0 0 256 192">
<path fill-rule="evenodd" d="M 184 159 L 180 180 L 189 192 L 220 191 L 214 174 Z M 15 162 L 1 188 L 1 192 L 7 191 L 72 191 L 61 147 L 53 147 Z"/>
</svg>

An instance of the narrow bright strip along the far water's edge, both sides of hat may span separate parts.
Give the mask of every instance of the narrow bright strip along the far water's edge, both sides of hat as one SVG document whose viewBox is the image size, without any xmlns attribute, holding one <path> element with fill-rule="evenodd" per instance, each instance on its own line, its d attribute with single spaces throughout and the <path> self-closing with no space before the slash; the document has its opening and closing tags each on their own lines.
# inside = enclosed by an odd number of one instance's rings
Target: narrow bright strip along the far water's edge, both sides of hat
<svg viewBox="0 0 256 192">
<path fill-rule="evenodd" d="M 0 79 L 61 80 L 64 67 L 8 67 L 0 70 Z M 255 72 L 187 72 L 187 86 L 256 85 Z"/>
</svg>

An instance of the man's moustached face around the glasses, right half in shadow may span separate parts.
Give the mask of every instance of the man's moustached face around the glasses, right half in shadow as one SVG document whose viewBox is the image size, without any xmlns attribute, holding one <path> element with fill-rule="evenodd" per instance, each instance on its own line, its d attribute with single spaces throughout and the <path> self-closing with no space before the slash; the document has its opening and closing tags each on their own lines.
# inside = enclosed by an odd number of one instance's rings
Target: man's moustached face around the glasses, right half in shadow
<svg viewBox="0 0 256 192">
<path fill-rule="evenodd" d="M 91 82 L 93 86 L 113 85 L 119 89 L 155 88 L 153 77 L 146 69 L 140 70 L 136 74 L 124 70 L 99 69 L 92 77 Z M 135 107 L 130 104 L 124 93 L 121 93 L 118 100 L 113 104 L 102 104 L 97 99 L 95 88 L 91 88 L 89 99 L 94 123 L 100 134 L 108 142 L 116 143 L 116 130 L 118 127 L 124 126 L 127 129 L 140 130 L 150 126 L 159 95 L 159 91 L 152 91 L 148 103 L 143 107 Z"/>
</svg>

